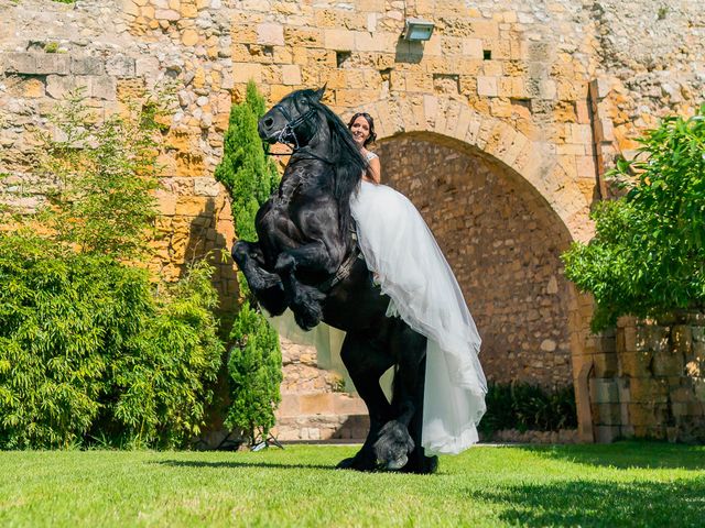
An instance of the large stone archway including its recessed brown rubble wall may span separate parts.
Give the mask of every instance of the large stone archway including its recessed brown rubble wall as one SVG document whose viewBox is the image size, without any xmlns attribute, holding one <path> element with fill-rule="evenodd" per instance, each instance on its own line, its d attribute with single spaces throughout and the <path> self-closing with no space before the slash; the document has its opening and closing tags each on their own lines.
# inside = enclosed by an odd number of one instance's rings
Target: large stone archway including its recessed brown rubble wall
<svg viewBox="0 0 705 528">
<path fill-rule="evenodd" d="M 587 391 L 592 362 L 585 354 L 592 304 L 563 277 L 558 260 L 572 241 L 586 241 L 593 235 L 590 200 L 566 174 L 555 147 L 549 142 L 531 141 L 503 121 L 482 116 L 464 101 L 451 98 L 409 95 L 346 111 L 344 118 L 354 111 L 367 111 L 376 118 L 388 182 L 417 202 L 459 275 L 485 338 L 482 361 L 488 377 L 542 384 L 573 381 L 579 438 L 593 441 Z M 395 162 L 394 155 L 399 153 L 394 151 L 404 143 L 405 152 Z M 412 146 L 408 147 L 409 144 Z M 411 163 L 423 151 L 422 145 L 425 155 Z M 395 163 L 406 167 L 437 163 L 444 168 L 455 167 L 455 174 L 438 172 L 431 185 L 440 194 L 431 204 L 427 189 L 419 190 L 424 178 L 425 185 L 430 185 L 427 174 L 394 176 L 392 173 L 400 170 L 394 168 Z M 484 175 L 481 193 L 467 188 L 474 182 L 470 170 Z M 465 199 L 460 207 L 456 202 L 458 196 L 460 201 Z M 484 207 L 501 202 L 501 208 L 497 207 L 501 210 L 495 211 L 489 221 L 468 216 L 471 200 Z M 512 218 L 502 231 L 503 239 L 495 233 L 490 240 L 486 238 L 484 243 L 468 248 L 456 244 L 457 233 L 445 232 L 442 222 L 431 218 L 432 205 L 434 211 L 453 219 L 456 226 L 459 220 L 467 222 L 468 231 L 479 228 L 491 233 L 488 228 L 492 223 L 499 223 L 502 217 Z M 513 216 L 506 211 L 513 211 Z M 512 246 L 514 251 L 510 251 Z M 473 257 L 485 258 L 484 270 L 501 276 L 480 285 L 479 274 L 470 273 Z M 508 295 L 511 288 L 505 287 L 492 295 L 481 293 L 481 286 L 488 292 L 502 278 L 518 290 Z"/>
</svg>

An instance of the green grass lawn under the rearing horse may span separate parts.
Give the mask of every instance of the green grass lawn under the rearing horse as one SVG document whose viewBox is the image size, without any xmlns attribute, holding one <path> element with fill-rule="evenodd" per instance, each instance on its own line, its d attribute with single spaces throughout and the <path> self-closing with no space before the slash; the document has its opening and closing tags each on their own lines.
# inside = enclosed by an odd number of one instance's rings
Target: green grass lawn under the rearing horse
<svg viewBox="0 0 705 528">
<path fill-rule="evenodd" d="M 480 447 L 435 475 L 349 447 L 0 452 L 0 526 L 704 526 L 705 447 Z"/>
</svg>

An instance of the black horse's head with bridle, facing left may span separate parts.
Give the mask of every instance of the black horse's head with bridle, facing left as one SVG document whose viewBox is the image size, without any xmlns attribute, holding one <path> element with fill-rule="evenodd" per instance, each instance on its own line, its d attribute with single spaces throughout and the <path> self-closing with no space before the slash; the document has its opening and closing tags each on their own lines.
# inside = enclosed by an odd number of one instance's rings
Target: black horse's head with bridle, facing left
<svg viewBox="0 0 705 528">
<path fill-rule="evenodd" d="M 325 86 L 318 90 L 297 90 L 284 97 L 259 120 L 260 138 L 268 143 L 306 145 L 317 130 L 316 113 L 324 91 Z"/>
</svg>

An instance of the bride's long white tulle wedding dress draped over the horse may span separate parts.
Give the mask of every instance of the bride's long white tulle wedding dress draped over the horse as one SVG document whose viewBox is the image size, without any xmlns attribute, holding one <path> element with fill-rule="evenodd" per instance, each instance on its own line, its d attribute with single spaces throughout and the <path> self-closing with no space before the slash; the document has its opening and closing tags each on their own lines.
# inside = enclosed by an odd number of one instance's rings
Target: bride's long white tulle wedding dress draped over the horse
<svg viewBox="0 0 705 528">
<path fill-rule="evenodd" d="M 427 338 L 422 444 L 431 453 L 457 454 L 478 441 L 487 393 L 478 359 L 481 340 L 460 287 L 405 196 L 362 180 L 350 208 L 367 266 L 391 299 L 387 315 Z M 274 326 L 289 339 L 316 344 L 322 366 L 341 365 L 338 331 L 319 324 L 303 336 L 292 319 L 275 318 Z"/>
</svg>

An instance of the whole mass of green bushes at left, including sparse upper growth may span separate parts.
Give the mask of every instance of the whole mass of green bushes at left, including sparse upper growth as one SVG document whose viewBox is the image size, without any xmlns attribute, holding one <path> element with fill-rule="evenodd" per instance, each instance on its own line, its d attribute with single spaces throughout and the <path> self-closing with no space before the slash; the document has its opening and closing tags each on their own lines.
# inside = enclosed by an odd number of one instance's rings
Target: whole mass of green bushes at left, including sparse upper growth
<svg viewBox="0 0 705 528">
<path fill-rule="evenodd" d="M 2 448 L 178 446 L 203 421 L 224 352 L 212 268 L 147 271 L 159 112 L 132 111 L 96 123 L 73 97 L 63 139 L 42 136 L 52 206 L 0 230 Z"/>
</svg>

